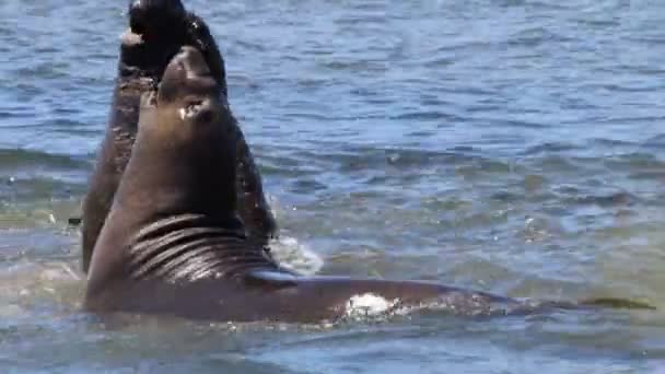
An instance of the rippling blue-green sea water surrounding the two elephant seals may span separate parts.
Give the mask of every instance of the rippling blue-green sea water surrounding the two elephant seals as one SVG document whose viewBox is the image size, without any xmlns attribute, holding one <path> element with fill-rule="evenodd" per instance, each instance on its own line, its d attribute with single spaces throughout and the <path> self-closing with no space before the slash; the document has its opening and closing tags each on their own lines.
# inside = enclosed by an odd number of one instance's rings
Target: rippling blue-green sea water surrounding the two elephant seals
<svg viewBox="0 0 665 374">
<path fill-rule="evenodd" d="M 0 0 L 0 373 L 665 372 L 665 2 L 186 1 L 285 262 L 660 308 L 338 326 L 80 311 L 125 5 Z"/>
</svg>

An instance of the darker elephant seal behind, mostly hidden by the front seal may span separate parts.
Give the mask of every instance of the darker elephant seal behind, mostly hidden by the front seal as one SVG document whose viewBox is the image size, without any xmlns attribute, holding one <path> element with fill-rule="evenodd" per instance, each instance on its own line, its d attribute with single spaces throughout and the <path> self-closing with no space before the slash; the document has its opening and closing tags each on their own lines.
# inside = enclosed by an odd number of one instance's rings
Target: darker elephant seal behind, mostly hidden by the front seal
<svg viewBox="0 0 665 374">
<path fill-rule="evenodd" d="M 198 49 L 226 97 L 224 60 L 206 23 L 185 11 L 179 0 L 135 0 L 130 27 L 121 37 L 118 77 L 106 133 L 82 207 L 82 268 L 86 272 L 120 177 L 136 139 L 140 96 L 159 84 L 166 65 L 182 46 Z M 261 177 L 237 122 L 232 128 L 236 149 L 236 200 L 248 237 L 267 246 L 277 224 L 266 201 Z M 152 166 L 145 165 L 147 168 Z M 210 173 L 215 173 L 212 167 Z"/>
</svg>

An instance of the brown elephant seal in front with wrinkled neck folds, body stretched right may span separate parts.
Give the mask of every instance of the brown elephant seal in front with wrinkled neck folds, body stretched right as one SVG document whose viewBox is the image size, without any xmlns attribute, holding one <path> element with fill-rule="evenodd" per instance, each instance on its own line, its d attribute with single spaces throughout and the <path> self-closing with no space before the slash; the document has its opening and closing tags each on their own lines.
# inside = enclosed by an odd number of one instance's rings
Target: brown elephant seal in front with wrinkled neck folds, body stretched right
<svg viewBox="0 0 665 374">
<path fill-rule="evenodd" d="M 280 268 L 237 219 L 235 118 L 196 48 L 183 47 L 158 92 L 142 96 L 138 126 L 93 253 L 84 302 L 90 312 L 317 323 L 345 318 L 361 294 L 394 301 L 393 309 L 438 303 L 471 315 L 597 307 L 418 281 L 303 277 Z"/>
</svg>

